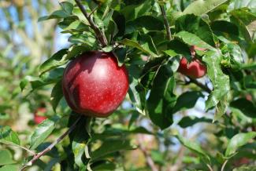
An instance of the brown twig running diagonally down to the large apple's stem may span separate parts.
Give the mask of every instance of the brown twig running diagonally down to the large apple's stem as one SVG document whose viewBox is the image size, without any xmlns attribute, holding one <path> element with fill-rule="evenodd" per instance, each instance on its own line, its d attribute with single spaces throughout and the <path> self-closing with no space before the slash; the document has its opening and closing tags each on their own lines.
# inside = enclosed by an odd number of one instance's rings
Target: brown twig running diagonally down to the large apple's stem
<svg viewBox="0 0 256 171">
<path fill-rule="evenodd" d="M 76 5 L 78 5 L 78 7 L 80 8 L 81 12 L 83 13 L 83 16 L 85 16 L 85 18 L 88 20 L 91 28 L 95 31 L 95 35 L 98 38 L 98 42 L 105 47 L 108 42 L 106 39 L 106 35 L 104 34 L 103 31 L 101 31 L 97 25 L 95 24 L 95 22 L 92 20 L 91 16 L 86 12 L 86 10 L 83 7 L 83 4 L 80 2 L 80 0 L 75 0 Z"/>
</svg>

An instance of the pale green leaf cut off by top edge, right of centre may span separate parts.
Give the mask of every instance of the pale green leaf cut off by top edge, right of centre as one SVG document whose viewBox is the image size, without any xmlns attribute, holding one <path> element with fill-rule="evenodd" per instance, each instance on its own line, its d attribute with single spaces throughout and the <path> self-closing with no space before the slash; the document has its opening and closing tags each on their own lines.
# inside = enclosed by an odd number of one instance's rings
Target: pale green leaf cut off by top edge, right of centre
<svg viewBox="0 0 256 171">
<path fill-rule="evenodd" d="M 209 13 L 227 1 L 228 0 L 197 0 L 188 5 L 183 14 L 194 13 L 195 15 L 199 16 L 204 13 Z"/>
</svg>

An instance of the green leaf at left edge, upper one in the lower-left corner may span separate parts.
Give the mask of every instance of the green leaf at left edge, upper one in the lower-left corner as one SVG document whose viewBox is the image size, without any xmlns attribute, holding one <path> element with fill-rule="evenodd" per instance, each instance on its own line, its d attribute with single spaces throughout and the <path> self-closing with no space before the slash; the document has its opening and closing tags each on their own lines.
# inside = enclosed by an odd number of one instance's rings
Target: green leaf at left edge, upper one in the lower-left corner
<svg viewBox="0 0 256 171">
<path fill-rule="evenodd" d="M 20 145 L 20 139 L 17 133 L 13 132 L 9 126 L 0 126 L 0 142 Z"/>
</svg>

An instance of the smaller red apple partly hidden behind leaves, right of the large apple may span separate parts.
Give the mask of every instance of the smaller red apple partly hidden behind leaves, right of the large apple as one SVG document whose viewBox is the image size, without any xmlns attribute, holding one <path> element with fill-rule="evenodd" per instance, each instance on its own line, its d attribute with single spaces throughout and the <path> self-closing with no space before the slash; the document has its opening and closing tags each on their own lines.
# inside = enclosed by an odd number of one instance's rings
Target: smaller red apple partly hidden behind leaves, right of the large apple
<svg viewBox="0 0 256 171">
<path fill-rule="evenodd" d="M 187 75 L 191 78 L 201 78 L 206 75 L 207 68 L 200 62 L 200 60 L 193 59 L 191 63 L 188 64 L 187 59 L 182 57 L 178 71 L 181 74 Z"/>
</svg>

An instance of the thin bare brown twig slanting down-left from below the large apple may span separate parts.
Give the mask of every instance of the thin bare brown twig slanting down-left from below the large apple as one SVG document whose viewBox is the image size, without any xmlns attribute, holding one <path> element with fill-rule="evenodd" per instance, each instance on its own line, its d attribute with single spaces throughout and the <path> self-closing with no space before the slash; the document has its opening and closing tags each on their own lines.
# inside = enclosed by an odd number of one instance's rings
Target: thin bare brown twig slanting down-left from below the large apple
<svg viewBox="0 0 256 171">
<path fill-rule="evenodd" d="M 34 157 L 33 157 L 29 162 L 27 162 L 27 163 L 20 169 L 20 171 L 23 171 L 23 170 L 26 169 L 28 166 L 32 166 L 33 163 L 34 163 L 36 160 L 38 160 L 40 157 L 42 157 L 43 155 L 45 155 L 48 151 L 51 151 L 51 149 L 52 149 L 56 144 L 58 144 L 59 142 L 61 142 L 61 140 L 63 140 L 63 139 L 65 138 L 65 136 L 69 135 L 69 133 L 71 133 L 72 130 L 76 128 L 76 124 L 77 124 L 77 122 L 80 121 L 80 118 L 81 118 L 81 116 L 76 119 L 76 122 L 74 122 L 74 123 L 72 124 L 72 126 L 70 126 L 69 129 L 68 129 L 65 133 L 63 133 L 60 137 L 58 137 L 57 140 L 54 140 L 54 142 L 53 142 L 52 144 L 50 144 L 48 147 L 46 147 L 46 149 L 44 149 L 43 151 L 41 151 L 41 152 L 37 153 L 36 155 L 34 155 Z"/>
</svg>

